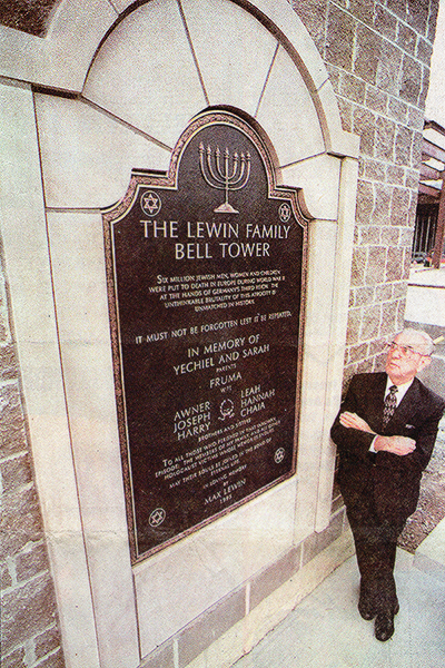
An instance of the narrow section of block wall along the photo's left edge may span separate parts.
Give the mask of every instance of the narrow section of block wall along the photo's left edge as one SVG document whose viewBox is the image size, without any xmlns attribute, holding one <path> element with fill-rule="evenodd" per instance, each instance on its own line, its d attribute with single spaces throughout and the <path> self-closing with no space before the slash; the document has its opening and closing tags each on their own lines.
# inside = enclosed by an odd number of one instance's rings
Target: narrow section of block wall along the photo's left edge
<svg viewBox="0 0 445 668">
<path fill-rule="evenodd" d="M 56 598 L 0 265 L 1 666 L 62 668 Z"/>
</svg>

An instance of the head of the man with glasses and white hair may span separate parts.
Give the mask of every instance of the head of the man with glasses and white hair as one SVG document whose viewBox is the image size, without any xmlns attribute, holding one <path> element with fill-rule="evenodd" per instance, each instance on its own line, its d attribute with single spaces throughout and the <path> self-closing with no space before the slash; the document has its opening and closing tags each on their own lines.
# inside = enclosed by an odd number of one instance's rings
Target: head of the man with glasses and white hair
<svg viewBox="0 0 445 668">
<path fill-rule="evenodd" d="M 395 385 L 408 383 L 431 363 L 424 355 L 425 342 L 415 332 L 402 332 L 394 338 L 386 357 L 385 371 Z"/>
</svg>

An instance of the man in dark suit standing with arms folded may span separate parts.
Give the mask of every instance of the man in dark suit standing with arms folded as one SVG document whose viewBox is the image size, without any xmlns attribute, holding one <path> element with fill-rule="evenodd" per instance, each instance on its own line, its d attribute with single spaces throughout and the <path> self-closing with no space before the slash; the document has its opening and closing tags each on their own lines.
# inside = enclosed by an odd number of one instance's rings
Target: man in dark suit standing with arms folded
<svg viewBox="0 0 445 668">
<path fill-rule="evenodd" d="M 386 373 L 355 375 L 332 429 L 339 484 L 354 534 L 358 610 L 375 618 L 375 636 L 394 633 L 397 538 L 414 512 L 445 402 L 416 374 L 431 363 L 433 341 L 404 330 L 387 346 Z"/>
</svg>

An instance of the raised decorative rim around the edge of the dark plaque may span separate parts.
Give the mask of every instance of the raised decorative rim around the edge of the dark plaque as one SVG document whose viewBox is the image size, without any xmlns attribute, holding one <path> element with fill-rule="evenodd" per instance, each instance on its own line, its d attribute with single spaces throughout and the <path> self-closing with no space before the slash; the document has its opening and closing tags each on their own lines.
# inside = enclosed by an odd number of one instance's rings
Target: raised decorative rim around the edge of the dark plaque
<svg viewBox="0 0 445 668">
<path fill-rule="evenodd" d="M 127 416 L 126 405 L 123 400 L 123 383 L 122 383 L 122 366 L 121 366 L 121 348 L 120 348 L 120 332 L 119 332 L 119 318 L 117 315 L 116 307 L 116 288 L 115 288 L 115 272 L 113 272 L 113 255 L 111 244 L 111 224 L 118 222 L 125 217 L 126 214 L 131 209 L 135 199 L 137 198 L 138 190 L 140 187 L 152 186 L 161 189 L 176 190 L 178 187 L 178 173 L 181 155 L 190 141 L 190 139 L 205 126 L 210 125 L 229 125 L 241 132 L 244 132 L 256 146 L 260 157 L 263 159 L 266 176 L 268 193 L 267 196 L 270 199 L 286 199 L 291 204 L 293 212 L 297 223 L 303 228 L 303 248 L 301 248 L 301 285 L 300 285 L 300 304 L 299 304 L 299 331 L 298 331 L 298 347 L 297 347 L 297 375 L 296 375 L 296 412 L 295 412 L 295 429 L 294 429 L 294 446 L 293 446 L 293 463 L 290 471 L 280 478 L 274 480 L 269 484 L 263 487 L 260 490 L 256 490 L 254 493 L 245 497 L 244 499 L 235 502 L 229 508 L 222 509 L 211 517 L 202 520 L 198 524 L 190 527 L 162 542 L 159 546 L 154 547 L 149 551 L 142 554 L 138 553 L 137 541 L 136 541 L 136 512 L 134 508 L 134 494 L 131 484 L 131 466 L 129 462 L 129 446 L 128 446 L 128 434 L 127 434 Z M 210 524 L 217 519 L 225 517 L 244 505 L 248 501 L 259 497 L 267 490 L 276 487 L 280 482 L 288 480 L 296 473 L 296 460 L 297 460 L 297 440 L 298 440 L 298 425 L 299 425 L 299 411 L 300 405 L 300 389 L 301 389 L 301 360 L 303 360 L 303 343 L 304 343 L 304 325 L 305 325 L 305 313 L 306 313 L 306 284 L 307 284 L 307 238 L 308 238 L 308 223 L 309 218 L 305 216 L 303 207 L 299 203 L 299 196 L 301 194 L 300 188 L 285 186 L 277 183 L 277 174 L 279 173 L 278 159 L 275 149 L 267 138 L 265 131 L 260 128 L 259 124 L 251 118 L 249 115 L 239 110 L 231 110 L 229 108 L 214 108 L 208 109 L 194 119 L 180 135 L 170 158 L 170 165 L 167 173 L 159 173 L 154 169 L 134 168 L 131 170 L 130 183 L 125 196 L 116 204 L 101 210 L 102 213 L 102 225 L 103 225 L 103 239 L 105 239 L 105 255 L 106 255 L 106 274 L 107 274 L 107 291 L 108 291 L 108 307 L 109 307 L 109 321 L 110 321 L 110 335 L 111 335 L 111 347 L 112 347 L 112 365 L 113 365 L 113 379 L 115 379 L 115 391 L 117 402 L 117 415 L 118 415 L 118 432 L 119 443 L 121 452 L 121 463 L 123 473 L 123 485 L 125 485 L 125 499 L 126 499 L 126 512 L 127 522 L 129 529 L 129 544 L 130 544 L 130 557 L 131 563 L 140 563 L 152 554 L 168 548 L 169 546 L 178 542 L 186 536 L 198 531 L 199 529 Z"/>
</svg>

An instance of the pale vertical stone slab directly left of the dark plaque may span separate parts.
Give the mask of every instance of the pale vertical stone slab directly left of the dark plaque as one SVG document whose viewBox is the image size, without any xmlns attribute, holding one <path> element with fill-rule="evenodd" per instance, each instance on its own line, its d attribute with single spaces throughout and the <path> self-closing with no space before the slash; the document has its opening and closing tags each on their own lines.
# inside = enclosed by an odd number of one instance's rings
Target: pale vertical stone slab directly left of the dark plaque
<svg viewBox="0 0 445 668">
<path fill-rule="evenodd" d="M 101 216 L 48 212 L 47 218 L 100 666 L 132 668 L 139 660 L 138 631 L 109 344 Z M 93 318 L 86 317 L 92 312 Z"/>
</svg>

